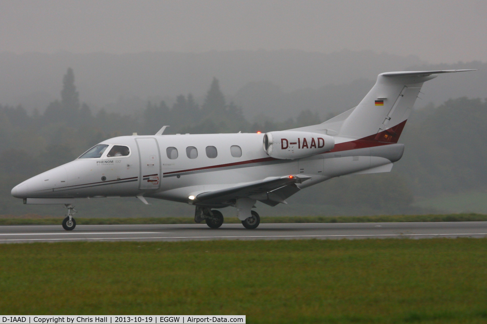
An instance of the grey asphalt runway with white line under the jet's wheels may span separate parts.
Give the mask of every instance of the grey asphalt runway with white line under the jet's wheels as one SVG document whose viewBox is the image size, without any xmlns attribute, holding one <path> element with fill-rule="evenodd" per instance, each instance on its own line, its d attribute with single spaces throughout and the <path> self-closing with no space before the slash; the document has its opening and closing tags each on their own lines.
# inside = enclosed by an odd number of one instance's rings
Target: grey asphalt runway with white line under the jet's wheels
<svg viewBox="0 0 487 324">
<path fill-rule="evenodd" d="M 59 225 L 0 226 L 0 243 L 59 241 L 180 241 L 210 239 L 368 239 L 368 238 L 487 237 L 487 222 L 409 223 L 288 223 L 261 224 L 247 230 L 242 224 Z"/>
</svg>

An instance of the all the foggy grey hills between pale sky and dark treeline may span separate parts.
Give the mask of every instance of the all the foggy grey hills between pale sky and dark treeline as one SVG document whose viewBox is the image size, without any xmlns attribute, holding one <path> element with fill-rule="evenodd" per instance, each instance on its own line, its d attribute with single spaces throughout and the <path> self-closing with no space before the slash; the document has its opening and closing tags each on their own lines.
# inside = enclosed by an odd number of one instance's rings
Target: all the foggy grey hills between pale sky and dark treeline
<svg viewBox="0 0 487 324">
<path fill-rule="evenodd" d="M 123 114 L 142 110 L 148 100 L 171 104 L 179 94 L 192 93 L 202 102 L 213 77 L 220 80 L 227 99 L 242 106 L 249 119 L 264 114 L 283 120 L 305 109 L 325 118 L 355 106 L 377 74 L 394 70 L 481 69 L 428 83 L 417 106 L 459 96 L 487 97 L 485 63 L 429 65 L 416 56 L 373 51 L 3 52 L 0 102 L 42 112 L 58 98 L 59 80 L 68 67 L 75 71 L 81 101 L 94 111 L 105 108 Z"/>
</svg>

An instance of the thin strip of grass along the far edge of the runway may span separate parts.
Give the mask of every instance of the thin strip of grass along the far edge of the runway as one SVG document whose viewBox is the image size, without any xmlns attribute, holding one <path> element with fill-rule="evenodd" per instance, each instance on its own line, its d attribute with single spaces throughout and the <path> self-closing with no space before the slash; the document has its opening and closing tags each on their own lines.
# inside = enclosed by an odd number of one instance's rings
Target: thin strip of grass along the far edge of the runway
<svg viewBox="0 0 487 324">
<path fill-rule="evenodd" d="M 57 225 L 62 218 L 0 218 L 0 225 Z M 191 217 L 154 218 L 75 218 L 78 225 L 113 224 L 194 224 Z M 483 214 L 449 215 L 383 215 L 383 216 L 282 216 L 261 217 L 261 223 L 350 223 L 350 222 L 486 222 Z M 225 223 L 240 223 L 236 217 L 225 217 Z"/>
</svg>

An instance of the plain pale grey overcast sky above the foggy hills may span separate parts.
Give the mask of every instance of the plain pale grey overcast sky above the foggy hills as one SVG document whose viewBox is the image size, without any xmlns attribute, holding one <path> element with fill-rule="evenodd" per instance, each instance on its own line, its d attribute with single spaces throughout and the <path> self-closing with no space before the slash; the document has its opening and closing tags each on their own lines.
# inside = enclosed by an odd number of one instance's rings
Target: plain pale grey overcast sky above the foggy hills
<svg viewBox="0 0 487 324">
<path fill-rule="evenodd" d="M 487 1 L 1 1 L 0 51 L 342 49 L 487 61 Z"/>
</svg>

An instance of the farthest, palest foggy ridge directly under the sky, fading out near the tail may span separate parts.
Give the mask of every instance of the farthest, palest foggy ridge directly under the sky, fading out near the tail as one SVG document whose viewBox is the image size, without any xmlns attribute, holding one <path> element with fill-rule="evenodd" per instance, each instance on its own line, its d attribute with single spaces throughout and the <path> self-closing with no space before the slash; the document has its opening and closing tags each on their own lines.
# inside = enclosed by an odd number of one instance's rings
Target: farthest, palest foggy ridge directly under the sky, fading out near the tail
<svg viewBox="0 0 487 324">
<path fill-rule="evenodd" d="M 414 56 L 372 51 L 331 54 L 295 50 L 144 52 L 137 54 L 0 53 L 0 102 L 42 110 L 58 97 L 66 68 L 75 71 L 81 100 L 96 107 L 138 97 L 203 96 L 213 77 L 227 96 L 249 82 L 270 82 L 283 92 L 375 80 L 383 71 L 424 64 Z M 244 107 L 245 108 L 245 107 Z M 116 108 L 114 108 L 116 109 Z M 124 111 L 128 113 L 129 111 Z"/>
</svg>

